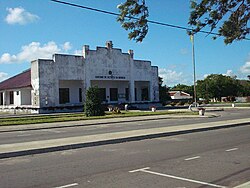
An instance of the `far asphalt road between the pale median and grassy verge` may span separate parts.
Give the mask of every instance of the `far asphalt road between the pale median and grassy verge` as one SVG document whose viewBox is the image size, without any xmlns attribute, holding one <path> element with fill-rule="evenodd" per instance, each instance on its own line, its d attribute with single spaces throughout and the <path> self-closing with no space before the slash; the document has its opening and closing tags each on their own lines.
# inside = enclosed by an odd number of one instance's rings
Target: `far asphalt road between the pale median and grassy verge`
<svg viewBox="0 0 250 188">
<path fill-rule="evenodd" d="M 67 128 L 52 128 L 32 131 L 15 131 L 0 133 L 0 144 L 11 144 L 28 141 L 48 140 L 56 138 L 67 138 L 74 136 L 84 136 L 93 134 L 103 134 L 107 132 L 121 132 L 135 129 L 149 129 L 154 127 L 166 127 L 187 125 L 194 123 L 216 122 L 221 120 L 232 120 L 249 118 L 250 110 L 229 109 L 222 112 L 215 112 L 220 115 L 217 118 L 192 118 L 192 119 L 161 119 L 154 121 L 136 121 L 105 125 L 91 125 Z"/>
</svg>

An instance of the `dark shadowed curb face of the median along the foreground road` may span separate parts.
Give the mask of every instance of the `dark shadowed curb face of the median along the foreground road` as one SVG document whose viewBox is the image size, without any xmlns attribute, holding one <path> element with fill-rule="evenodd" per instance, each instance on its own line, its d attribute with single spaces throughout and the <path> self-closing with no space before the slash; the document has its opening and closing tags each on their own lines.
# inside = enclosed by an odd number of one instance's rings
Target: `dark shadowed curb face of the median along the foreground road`
<svg viewBox="0 0 250 188">
<path fill-rule="evenodd" d="M 50 152 L 55 152 L 55 151 L 63 151 L 63 150 L 71 150 L 71 149 L 80 149 L 80 148 L 85 148 L 85 147 L 101 146 L 101 145 L 108 145 L 108 144 L 117 144 L 117 143 L 123 143 L 123 142 L 139 141 L 139 140 L 145 140 L 145 139 L 175 136 L 175 135 L 182 135 L 182 134 L 189 134 L 189 133 L 196 133 L 196 132 L 204 132 L 204 131 L 209 131 L 209 130 L 232 128 L 232 127 L 244 126 L 244 125 L 249 125 L 249 124 L 250 122 L 234 123 L 234 124 L 220 125 L 216 127 L 194 128 L 191 130 L 169 131 L 169 132 L 162 132 L 162 133 L 156 133 L 156 134 L 145 134 L 145 135 L 132 136 L 132 137 L 114 138 L 114 139 L 107 139 L 107 140 L 100 140 L 100 141 L 90 141 L 90 142 L 85 142 L 85 143 L 83 142 L 83 143 L 68 144 L 68 145 L 66 144 L 62 146 L 54 146 L 54 147 L 47 147 L 47 148 L 37 148 L 37 149 L 28 149 L 28 150 L 23 150 L 23 151 L 6 152 L 6 153 L 0 153 L 0 159 L 20 157 L 20 156 L 26 156 L 26 155 L 34 155 L 34 154 L 42 154 L 42 153 L 50 153 Z"/>
</svg>

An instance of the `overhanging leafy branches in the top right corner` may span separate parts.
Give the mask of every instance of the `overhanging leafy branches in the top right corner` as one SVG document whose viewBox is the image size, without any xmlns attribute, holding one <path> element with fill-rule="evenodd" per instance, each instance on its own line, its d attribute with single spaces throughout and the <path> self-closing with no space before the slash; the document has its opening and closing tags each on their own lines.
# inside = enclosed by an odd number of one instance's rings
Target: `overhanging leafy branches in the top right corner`
<svg viewBox="0 0 250 188">
<path fill-rule="evenodd" d="M 194 32 L 210 27 L 212 32 L 219 26 L 219 35 L 224 36 L 225 44 L 246 39 L 250 32 L 249 0 L 196 0 L 191 1 L 189 24 Z M 216 38 L 216 37 L 215 37 Z"/>
</svg>

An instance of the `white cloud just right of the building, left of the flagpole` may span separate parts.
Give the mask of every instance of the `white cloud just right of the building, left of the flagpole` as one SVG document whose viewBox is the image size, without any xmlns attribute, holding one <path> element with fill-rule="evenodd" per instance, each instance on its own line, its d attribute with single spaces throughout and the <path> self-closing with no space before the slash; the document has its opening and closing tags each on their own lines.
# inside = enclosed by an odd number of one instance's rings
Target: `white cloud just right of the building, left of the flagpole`
<svg viewBox="0 0 250 188">
<path fill-rule="evenodd" d="M 187 75 L 183 72 L 176 72 L 170 69 L 159 69 L 159 76 L 163 78 L 164 84 L 167 86 L 173 86 L 176 84 L 190 84 Z M 191 79 L 191 78 L 190 78 Z"/>
</svg>

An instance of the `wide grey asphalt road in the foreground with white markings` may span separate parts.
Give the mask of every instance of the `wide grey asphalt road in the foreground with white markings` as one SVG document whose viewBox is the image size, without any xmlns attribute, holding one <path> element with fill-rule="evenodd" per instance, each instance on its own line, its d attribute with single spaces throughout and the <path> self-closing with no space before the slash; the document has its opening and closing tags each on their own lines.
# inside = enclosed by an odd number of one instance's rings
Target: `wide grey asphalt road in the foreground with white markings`
<svg viewBox="0 0 250 188">
<path fill-rule="evenodd" d="M 2 159 L 1 187 L 234 187 L 250 181 L 249 132 L 250 125 Z"/>
</svg>

